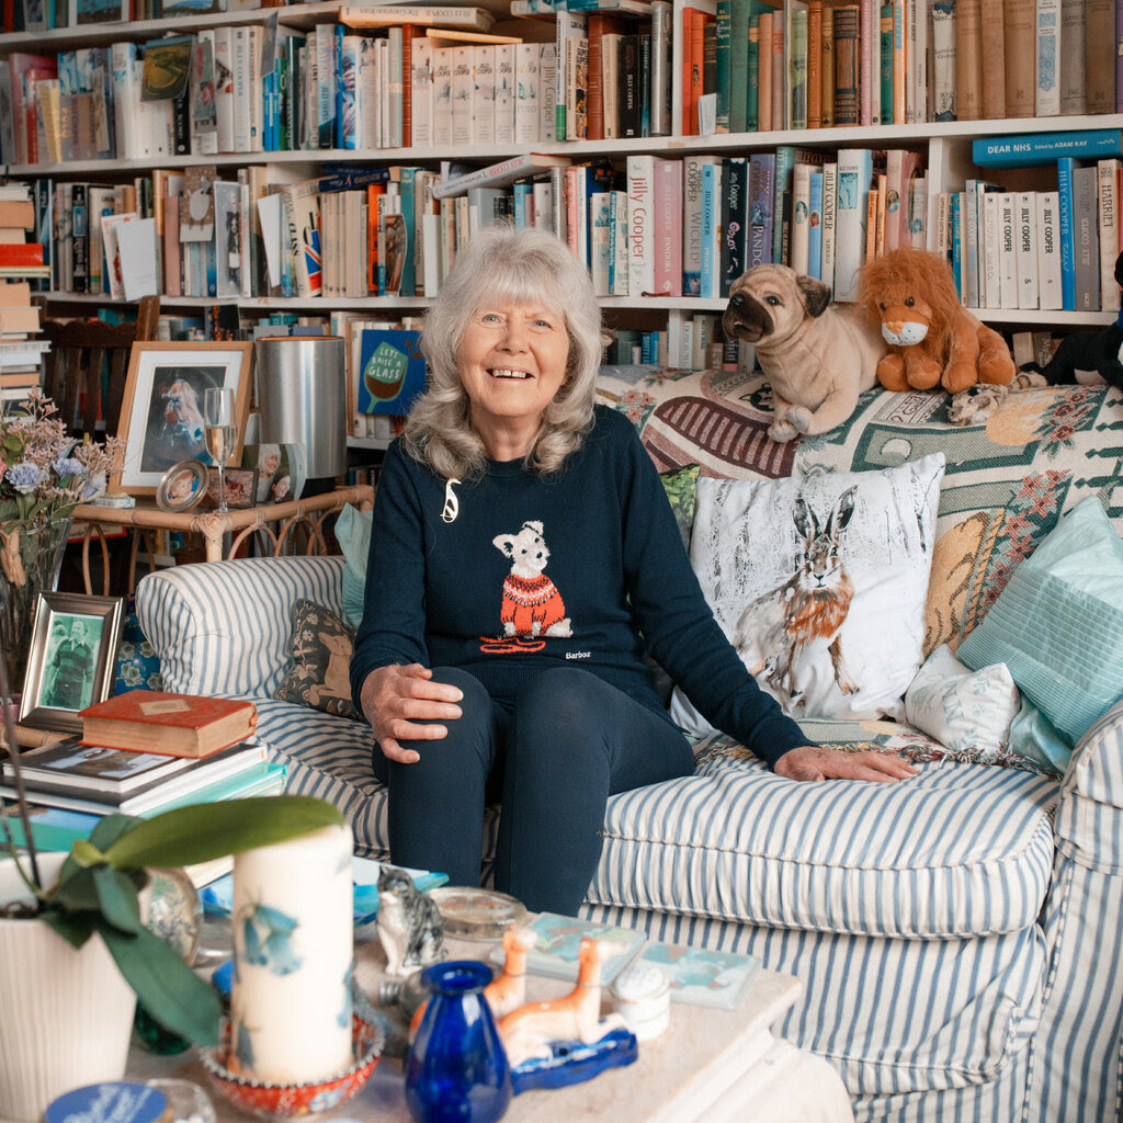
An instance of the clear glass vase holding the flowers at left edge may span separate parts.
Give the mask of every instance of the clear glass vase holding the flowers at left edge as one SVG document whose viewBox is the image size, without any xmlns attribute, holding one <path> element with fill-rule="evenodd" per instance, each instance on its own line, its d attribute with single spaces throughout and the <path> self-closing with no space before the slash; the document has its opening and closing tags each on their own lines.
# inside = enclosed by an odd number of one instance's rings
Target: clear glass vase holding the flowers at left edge
<svg viewBox="0 0 1123 1123">
<path fill-rule="evenodd" d="M 31 629 L 39 593 L 54 592 L 71 520 L 49 519 L 36 527 L 17 524 L 0 531 L 0 638 L 8 666 L 8 690 L 24 688 Z"/>
</svg>

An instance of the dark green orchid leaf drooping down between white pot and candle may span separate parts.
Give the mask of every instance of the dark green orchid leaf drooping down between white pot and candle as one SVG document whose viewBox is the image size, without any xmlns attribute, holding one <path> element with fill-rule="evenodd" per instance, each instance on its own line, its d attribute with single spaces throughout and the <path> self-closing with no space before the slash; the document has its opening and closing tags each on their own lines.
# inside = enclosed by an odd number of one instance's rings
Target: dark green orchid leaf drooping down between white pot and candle
<svg viewBox="0 0 1123 1123">
<path fill-rule="evenodd" d="M 146 928 L 133 935 L 108 925 L 98 930 L 154 1021 L 197 1046 L 218 1044 L 222 1013 L 218 995 L 159 937 Z"/>
</svg>

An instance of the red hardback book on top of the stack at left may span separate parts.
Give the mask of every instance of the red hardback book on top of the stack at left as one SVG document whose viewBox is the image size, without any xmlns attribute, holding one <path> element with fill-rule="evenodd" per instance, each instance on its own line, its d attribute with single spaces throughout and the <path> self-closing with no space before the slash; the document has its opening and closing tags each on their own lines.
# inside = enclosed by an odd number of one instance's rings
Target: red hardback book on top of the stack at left
<svg viewBox="0 0 1123 1123">
<path fill-rule="evenodd" d="M 128 691 L 86 706 L 79 716 L 83 745 L 173 757 L 210 756 L 257 728 L 253 702 L 164 691 Z"/>
</svg>

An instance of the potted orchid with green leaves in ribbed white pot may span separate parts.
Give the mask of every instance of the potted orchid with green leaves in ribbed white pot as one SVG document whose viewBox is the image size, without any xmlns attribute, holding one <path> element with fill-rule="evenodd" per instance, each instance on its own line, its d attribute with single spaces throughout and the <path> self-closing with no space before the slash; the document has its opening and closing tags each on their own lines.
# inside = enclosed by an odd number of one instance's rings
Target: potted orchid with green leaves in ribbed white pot
<svg viewBox="0 0 1123 1123">
<path fill-rule="evenodd" d="M 0 650 L 0 702 L 7 696 Z M 30 847 L 20 856 L 7 821 L 19 814 L 31 839 L 18 757 L 10 754 L 18 806 L 0 807 L 0 847 L 10 853 L 0 861 L 0 1117 L 36 1120 L 63 1092 L 121 1077 L 135 999 L 170 1032 L 218 1043 L 216 993 L 143 923 L 147 868 L 209 861 L 344 820 L 308 796 L 232 800 L 150 819 L 108 815 L 69 855 Z"/>
</svg>

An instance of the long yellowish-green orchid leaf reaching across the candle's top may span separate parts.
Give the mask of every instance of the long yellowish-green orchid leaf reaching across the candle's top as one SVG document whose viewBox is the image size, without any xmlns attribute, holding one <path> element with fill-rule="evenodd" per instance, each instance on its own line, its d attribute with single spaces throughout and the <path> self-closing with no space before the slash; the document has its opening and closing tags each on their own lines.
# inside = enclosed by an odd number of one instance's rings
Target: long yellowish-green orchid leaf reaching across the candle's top
<svg viewBox="0 0 1123 1123">
<path fill-rule="evenodd" d="M 226 800 L 140 820 L 106 849 L 117 869 L 189 866 L 341 825 L 339 809 L 307 795 Z"/>
</svg>

